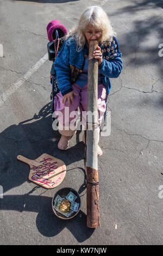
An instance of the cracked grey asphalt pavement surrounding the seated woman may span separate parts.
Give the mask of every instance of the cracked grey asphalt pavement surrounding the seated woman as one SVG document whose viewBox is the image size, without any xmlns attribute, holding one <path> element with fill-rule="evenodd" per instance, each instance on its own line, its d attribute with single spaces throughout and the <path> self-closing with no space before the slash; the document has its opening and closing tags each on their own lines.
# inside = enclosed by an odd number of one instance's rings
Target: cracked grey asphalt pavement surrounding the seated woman
<svg viewBox="0 0 163 256">
<path fill-rule="evenodd" d="M 123 60 L 122 74 L 111 79 L 111 133 L 99 141 L 96 229 L 86 227 L 83 132 L 60 151 L 60 136 L 52 129 L 46 32 L 54 19 L 72 28 L 90 5 L 109 15 Z M 162 244 L 162 8 L 157 0 L 0 0 L 1 245 Z M 29 181 L 28 165 L 16 159 L 43 153 L 67 167 L 64 181 L 52 190 Z M 77 190 L 82 201 L 69 221 L 52 210 L 62 187 Z"/>
</svg>

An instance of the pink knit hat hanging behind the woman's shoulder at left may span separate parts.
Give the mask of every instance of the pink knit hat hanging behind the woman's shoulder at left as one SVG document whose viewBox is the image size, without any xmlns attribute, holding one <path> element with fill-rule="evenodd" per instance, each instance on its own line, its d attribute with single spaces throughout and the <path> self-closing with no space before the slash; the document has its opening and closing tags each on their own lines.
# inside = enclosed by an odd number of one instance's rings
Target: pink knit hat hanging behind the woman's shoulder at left
<svg viewBox="0 0 163 256">
<path fill-rule="evenodd" d="M 53 41 L 55 39 L 55 34 L 53 35 L 54 30 L 58 30 L 59 38 L 62 38 L 65 34 L 67 34 L 67 29 L 63 26 L 58 20 L 53 20 L 48 23 L 47 26 L 47 34 L 48 40 Z"/>
</svg>

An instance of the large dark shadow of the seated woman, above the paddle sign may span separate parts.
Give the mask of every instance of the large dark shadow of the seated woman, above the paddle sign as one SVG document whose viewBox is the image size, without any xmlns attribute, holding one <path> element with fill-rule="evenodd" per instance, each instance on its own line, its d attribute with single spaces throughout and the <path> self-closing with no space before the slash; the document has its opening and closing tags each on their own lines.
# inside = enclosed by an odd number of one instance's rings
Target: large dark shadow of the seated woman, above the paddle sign
<svg viewBox="0 0 163 256">
<path fill-rule="evenodd" d="M 66 151 L 58 149 L 60 134 L 52 129 L 50 108 L 51 103 L 48 103 L 33 118 L 11 125 L 0 133 L 1 185 L 4 192 L 28 180 L 29 166 L 18 161 L 17 155 L 34 160 L 47 153 L 63 160 L 66 166 L 84 159 L 84 143 L 79 142 L 79 133 L 72 138 L 77 142 L 74 147 Z"/>
</svg>

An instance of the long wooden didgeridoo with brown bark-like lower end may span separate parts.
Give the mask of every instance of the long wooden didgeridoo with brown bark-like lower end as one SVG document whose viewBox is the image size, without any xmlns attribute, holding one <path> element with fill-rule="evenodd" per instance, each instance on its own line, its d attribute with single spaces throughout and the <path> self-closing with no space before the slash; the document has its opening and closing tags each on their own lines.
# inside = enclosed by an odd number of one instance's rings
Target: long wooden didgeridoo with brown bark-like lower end
<svg viewBox="0 0 163 256">
<path fill-rule="evenodd" d="M 89 65 L 87 82 L 87 150 L 86 150 L 86 181 L 87 181 L 87 227 L 100 227 L 99 182 L 98 182 L 98 60 L 93 58 L 98 41 L 92 40 L 89 45 Z M 91 114 L 92 113 L 92 117 Z"/>
</svg>

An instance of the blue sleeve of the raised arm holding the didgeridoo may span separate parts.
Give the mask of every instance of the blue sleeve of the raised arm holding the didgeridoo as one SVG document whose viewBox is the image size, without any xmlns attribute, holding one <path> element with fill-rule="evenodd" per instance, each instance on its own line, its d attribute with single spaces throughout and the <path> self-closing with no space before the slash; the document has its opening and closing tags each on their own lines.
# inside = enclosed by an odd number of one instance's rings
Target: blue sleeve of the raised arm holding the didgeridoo
<svg viewBox="0 0 163 256">
<path fill-rule="evenodd" d="M 109 57 L 108 57 L 109 54 Z M 122 53 L 118 45 L 117 39 L 114 36 L 111 42 L 110 52 L 104 49 L 102 64 L 99 65 L 99 70 L 103 76 L 116 78 L 122 71 Z"/>
</svg>

